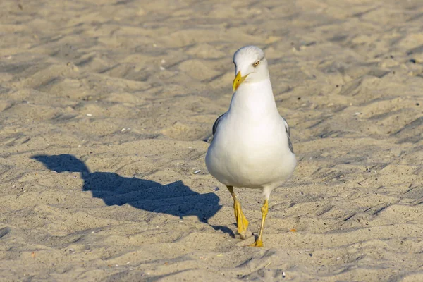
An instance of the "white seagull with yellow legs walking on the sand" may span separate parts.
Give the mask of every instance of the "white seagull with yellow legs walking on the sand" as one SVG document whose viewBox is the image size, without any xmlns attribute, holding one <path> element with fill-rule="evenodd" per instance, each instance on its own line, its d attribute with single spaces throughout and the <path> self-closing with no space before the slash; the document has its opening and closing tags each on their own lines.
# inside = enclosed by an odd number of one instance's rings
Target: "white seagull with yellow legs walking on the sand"
<svg viewBox="0 0 423 282">
<path fill-rule="evenodd" d="M 241 239 L 247 238 L 248 221 L 233 188 L 262 190 L 262 224 L 252 247 L 262 247 L 264 220 L 271 191 L 292 176 L 297 161 L 286 119 L 278 112 L 264 51 L 245 46 L 233 55 L 235 79 L 228 111 L 213 125 L 207 150 L 209 173 L 226 185 Z"/>
</svg>

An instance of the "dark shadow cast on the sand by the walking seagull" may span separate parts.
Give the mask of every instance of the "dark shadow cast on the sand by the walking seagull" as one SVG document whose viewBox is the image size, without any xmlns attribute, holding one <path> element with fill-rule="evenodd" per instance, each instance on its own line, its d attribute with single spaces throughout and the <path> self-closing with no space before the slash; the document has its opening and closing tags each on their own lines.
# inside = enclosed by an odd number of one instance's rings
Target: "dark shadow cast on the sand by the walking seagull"
<svg viewBox="0 0 423 282">
<path fill-rule="evenodd" d="M 235 238 L 233 231 L 226 226 L 213 226 L 208 219 L 220 209 L 219 197 L 210 192 L 200 194 L 192 191 L 181 180 L 161 185 L 152 180 L 123 177 L 117 173 L 91 172 L 83 161 L 71 154 L 32 156 L 51 171 L 78 172 L 84 185 L 82 191 L 91 191 L 92 197 L 100 198 L 108 206 L 130 204 L 137 209 L 172 216 L 197 216 L 214 230 L 228 233 Z"/>
</svg>

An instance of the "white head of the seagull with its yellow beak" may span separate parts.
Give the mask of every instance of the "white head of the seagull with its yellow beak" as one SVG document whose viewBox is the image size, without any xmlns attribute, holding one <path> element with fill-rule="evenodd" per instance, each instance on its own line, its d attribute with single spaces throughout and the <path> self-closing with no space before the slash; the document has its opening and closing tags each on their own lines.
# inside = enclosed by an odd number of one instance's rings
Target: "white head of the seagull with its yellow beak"
<svg viewBox="0 0 423 282">
<path fill-rule="evenodd" d="M 233 80 L 233 91 L 238 89 L 241 83 L 259 82 L 269 79 L 267 60 L 264 58 L 264 51 L 259 47 L 245 46 L 233 54 L 235 64 L 235 79 Z"/>
</svg>

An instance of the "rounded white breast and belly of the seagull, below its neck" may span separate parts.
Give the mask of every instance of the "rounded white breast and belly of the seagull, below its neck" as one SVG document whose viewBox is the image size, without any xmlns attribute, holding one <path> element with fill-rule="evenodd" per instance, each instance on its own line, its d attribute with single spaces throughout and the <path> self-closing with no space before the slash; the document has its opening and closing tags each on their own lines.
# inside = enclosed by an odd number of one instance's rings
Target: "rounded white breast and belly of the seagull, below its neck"
<svg viewBox="0 0 423 282">
<path fill-rule="evenodd" d="M 261 123 L 221 121 L 206 156 L 209 172 L 221 183 L 235 187 L 278 186 L 295 168 L 282 118 Z"/>
</svg>

